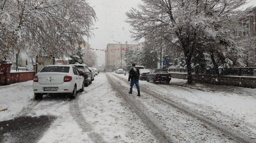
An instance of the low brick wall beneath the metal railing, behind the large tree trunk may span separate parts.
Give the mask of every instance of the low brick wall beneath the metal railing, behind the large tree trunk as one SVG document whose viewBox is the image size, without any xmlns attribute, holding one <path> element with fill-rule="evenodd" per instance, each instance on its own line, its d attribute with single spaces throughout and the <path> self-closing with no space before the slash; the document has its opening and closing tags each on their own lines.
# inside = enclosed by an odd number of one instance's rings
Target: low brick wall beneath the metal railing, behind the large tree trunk
<svg viewBox="0 0 256 143">
<path fill-rule="evenodd" d="M 173 78 L 186 79 L 187 74 L 170 73 Z M 237 86 L 246 88 L 256 88 L 255 77 L 234 77 L 221 75 L 193 74 L 193 81 L 211 83 L 217 85 Z"/>
</svg>

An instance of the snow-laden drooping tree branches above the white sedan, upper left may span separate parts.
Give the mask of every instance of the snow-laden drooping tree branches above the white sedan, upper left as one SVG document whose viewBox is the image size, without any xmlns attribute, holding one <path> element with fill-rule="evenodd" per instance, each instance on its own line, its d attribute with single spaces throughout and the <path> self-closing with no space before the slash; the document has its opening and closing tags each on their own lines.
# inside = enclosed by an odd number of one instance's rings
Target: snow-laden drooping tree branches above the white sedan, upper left
<svg viewBox="0 0 256 143">
<path fill-rule="evenodd" d="M 85 0 L 4 0 L 0 2 L 0 60 L 29 49 L 32 55 L 67 56 L 85 43 L 96 19 Z"/>
</svg>

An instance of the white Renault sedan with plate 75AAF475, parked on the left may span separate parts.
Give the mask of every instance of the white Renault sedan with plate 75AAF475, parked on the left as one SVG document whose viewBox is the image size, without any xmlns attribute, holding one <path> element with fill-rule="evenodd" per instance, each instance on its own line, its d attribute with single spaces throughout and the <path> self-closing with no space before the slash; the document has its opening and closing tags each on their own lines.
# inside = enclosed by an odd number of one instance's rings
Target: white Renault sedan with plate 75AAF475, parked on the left
<svg viewBox="0 0 256 143">
<path fill-rule="evenodd" d="M 49 93 L 68 93 L 70 98 L 75 98 L 78 90 L 84 91 L 84 77 L 75 66 L 45 66 L 33 78 L 35 99 Z"/>
</svg>

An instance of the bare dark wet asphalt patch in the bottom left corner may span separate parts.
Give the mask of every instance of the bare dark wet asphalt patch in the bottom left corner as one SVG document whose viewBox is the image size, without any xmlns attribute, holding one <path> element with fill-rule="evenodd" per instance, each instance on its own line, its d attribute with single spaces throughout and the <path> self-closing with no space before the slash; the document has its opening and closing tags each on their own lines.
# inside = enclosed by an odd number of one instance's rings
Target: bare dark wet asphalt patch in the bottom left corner
<svg viewBox="0 0 256 143">
<path fill-rule="evenodd" d="M 0 143 L 35 143 L 55 120 L 54 116 L 21 116 L 0 122 Z"/>
</svg>

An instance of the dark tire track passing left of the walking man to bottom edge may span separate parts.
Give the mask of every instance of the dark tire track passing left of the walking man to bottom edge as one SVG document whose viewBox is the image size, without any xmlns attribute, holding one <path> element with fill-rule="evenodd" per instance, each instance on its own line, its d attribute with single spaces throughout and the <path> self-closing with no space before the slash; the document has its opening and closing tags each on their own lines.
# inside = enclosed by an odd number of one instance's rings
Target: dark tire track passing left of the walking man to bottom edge
<svg viewBox="0 0 256 143">
<path fill-rule="evenodd" d="M 117 93 L 120 95 L 126 95 L 126 91 L 122 90 L 123 88 L 120 86 L 120 84 L 114 83 L 114 81 L 111 79 L 111 77 L 106 74 L 107 79 L 109 80 L 112 87 L 115 87 L 117 89 Z M 151 131 L 152 135 L 154 135 L 159 142 L 161 143 L 171 143 L 169 138 L 165 135 L 165 132 L 160 130 L 159 127 L 144 113 L 143 110 L 141 110 L 137 104 L 134 103 L 134 101 L 129 98 L 128 96 L 121 96 L 135 111 L 135 113 L 140 117 L 141 121 L 148 127 L 148 129 Z"/>
</svg>

